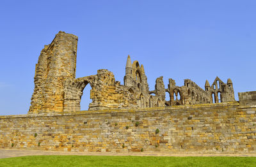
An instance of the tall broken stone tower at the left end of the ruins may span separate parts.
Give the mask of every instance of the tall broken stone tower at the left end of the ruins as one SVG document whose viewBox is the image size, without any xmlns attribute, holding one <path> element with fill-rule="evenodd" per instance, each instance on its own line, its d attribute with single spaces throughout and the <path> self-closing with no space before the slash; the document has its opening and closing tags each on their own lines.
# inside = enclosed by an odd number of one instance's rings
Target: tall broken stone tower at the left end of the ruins
<svg viewBox="0 0 256 167">
<path fill-rule="evenodd" d="M 77 36 L 60 31 L 41 51 L 29 113 L 63 112 L 63 83 L 76 77 L 77 40 Z"/>
</svg>

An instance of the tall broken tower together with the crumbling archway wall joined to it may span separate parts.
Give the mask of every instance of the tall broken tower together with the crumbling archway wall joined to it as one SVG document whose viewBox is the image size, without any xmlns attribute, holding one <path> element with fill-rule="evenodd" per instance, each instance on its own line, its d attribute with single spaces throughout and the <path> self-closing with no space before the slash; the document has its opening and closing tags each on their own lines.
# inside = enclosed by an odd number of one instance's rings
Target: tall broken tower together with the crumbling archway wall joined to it
<svg viewBox="0 0 256 167">
<path fill-rule="evenodd" d="M 113 73 L 106 69 L 98 70 L 97 75 L 75 78 L 76 52 L 77 36 L 61 31 L 45 46 L 36 64 L 29 113 L 79 111 L 83 89 L 88 83 L 92 87 L 89 110 L 137 107 L 136 91 L 115 82 Z"/>
</svg>

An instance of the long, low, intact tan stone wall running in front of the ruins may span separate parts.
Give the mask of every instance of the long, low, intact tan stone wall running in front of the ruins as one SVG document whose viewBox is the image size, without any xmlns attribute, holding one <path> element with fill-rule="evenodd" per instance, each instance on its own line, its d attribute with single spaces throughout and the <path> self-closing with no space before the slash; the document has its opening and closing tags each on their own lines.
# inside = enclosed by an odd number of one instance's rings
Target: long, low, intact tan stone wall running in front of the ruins
<svg viewBox="0 0 256 167">
<path fill-rule="evenodd" d="M 1 116 L 0 147 L 83 152 L 256 153 L 255 111 L 255 107 L 230 102 Z"/>
</svg>

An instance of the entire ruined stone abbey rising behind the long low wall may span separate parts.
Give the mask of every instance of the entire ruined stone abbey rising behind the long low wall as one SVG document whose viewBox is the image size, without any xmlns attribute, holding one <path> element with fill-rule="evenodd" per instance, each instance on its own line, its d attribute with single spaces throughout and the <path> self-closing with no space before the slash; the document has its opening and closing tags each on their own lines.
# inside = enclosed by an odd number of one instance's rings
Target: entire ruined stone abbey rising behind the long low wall
<svg viewBox="0 0 256 167">
<path fill-rule="evenodd" d="M 113 108 L 152 108 L 159 106 L 196 105 L 235 101 L 232 81 L 224 83 L 216 77 L 212 85 L 206 80 L 205 90 L 195 82 L 184 80 L 184 86 L 169 79 L 164 87 L 163 76 L 156 79 L 155 90 L 150 91 L 143 65 L 128 55 L 124 85 L 113 73 L 99 69 L 97 75 L 76 78 L 77 36 L 58 33 L 50 45 L 42 50 L 35 70 L 35 91 L 29 113 L 80 111 L 83 89 L 89 83 L 89 110 Z M 170 101 L 166 101 L 166 92 Z"/>
</svg>

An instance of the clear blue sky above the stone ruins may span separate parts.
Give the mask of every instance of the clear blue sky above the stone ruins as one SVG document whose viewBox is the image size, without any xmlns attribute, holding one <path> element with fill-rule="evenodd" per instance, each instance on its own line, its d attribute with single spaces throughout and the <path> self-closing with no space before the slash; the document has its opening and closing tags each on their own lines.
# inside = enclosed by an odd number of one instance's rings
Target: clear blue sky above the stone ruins
<svg viewBox="0 0 256 167">
<path fill-rule="evenodd" d="M 76 77 L 108 69 L 124 84 L 127 55 L 156 78 L 204 89 L 218 76 L 256 91 L 256 1 L 12 1 L 0 6 L 0 115 L 26 114 L 35 64 L 59 31 L 78 36 Z M 86 86 L 81 110 L 88 109 Z"/>
</svg>

